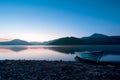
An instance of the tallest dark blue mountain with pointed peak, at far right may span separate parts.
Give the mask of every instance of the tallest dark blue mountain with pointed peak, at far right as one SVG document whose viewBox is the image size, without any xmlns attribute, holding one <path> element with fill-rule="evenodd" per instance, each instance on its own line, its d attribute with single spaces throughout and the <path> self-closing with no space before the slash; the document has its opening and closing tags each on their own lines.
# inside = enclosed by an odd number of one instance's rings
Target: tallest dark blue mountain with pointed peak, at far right
<svg viewBox="0 0 120 80">
<path fill-rule="evenodd" d="M 112 45 L 120 44 L 120 36 L 107 36 L 95 33 L 89 37 L 81 38 L 86 45 Z"/>
</svg>

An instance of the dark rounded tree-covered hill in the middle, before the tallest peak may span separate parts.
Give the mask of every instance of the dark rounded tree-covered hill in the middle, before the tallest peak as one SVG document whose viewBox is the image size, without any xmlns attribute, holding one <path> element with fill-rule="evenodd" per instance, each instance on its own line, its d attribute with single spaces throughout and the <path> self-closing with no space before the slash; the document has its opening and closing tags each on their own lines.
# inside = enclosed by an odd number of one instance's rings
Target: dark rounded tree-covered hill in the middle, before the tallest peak
<svg viewBox="0 0 120 80">
<path fill-rule="evenodd" d="M 48 45 L 82 45 L 84 41 L 75 37 L 63 37 L 47 42 Z"/>
</svg>

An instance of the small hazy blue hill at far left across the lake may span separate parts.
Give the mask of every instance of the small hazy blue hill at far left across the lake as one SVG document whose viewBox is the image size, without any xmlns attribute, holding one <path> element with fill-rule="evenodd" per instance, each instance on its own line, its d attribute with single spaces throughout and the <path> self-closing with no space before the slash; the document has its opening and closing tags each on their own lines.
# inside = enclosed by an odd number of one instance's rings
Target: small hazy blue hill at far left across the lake
<svg viewBox="0 0 120 80">
<path fill-rule="evenodd" d="M 11 41 L 0 42 L 0 45 L 30 45 L 30 43 L 24 40 L 14 39 Z"/>
</svg>

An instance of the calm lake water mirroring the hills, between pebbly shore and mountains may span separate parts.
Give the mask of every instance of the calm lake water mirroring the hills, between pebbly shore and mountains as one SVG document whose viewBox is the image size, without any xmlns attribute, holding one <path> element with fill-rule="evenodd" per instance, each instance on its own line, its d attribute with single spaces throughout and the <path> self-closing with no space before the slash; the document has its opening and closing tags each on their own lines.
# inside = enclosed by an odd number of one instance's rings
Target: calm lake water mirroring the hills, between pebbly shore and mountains
<svg viewBox="0 0 120 80">
<path fill-rule="evenodd" d="M 101 60 L 120 61 L 120 45 L 81 46 L 0 46 L 0 60 L 63 60 L 75 61 L 76 52 L 104 51 Z M 96 58 L 83 55 L 81 57 Z"/>
</svg>

